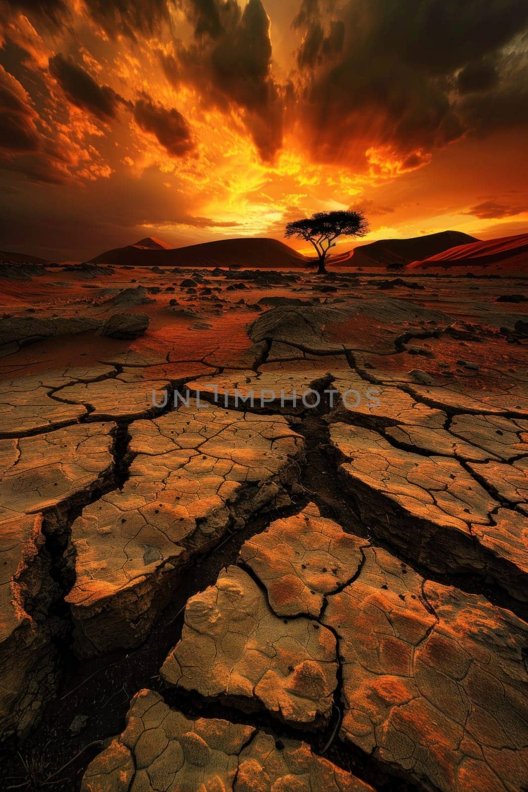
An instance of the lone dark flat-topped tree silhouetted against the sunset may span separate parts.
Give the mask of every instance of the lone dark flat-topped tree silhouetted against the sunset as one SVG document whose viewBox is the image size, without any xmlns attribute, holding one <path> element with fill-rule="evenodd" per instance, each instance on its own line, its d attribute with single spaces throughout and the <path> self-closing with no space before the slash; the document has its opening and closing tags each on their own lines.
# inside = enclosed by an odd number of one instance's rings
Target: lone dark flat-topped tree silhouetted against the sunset
<svg viewBox="0 0 528 792">
<path fill-rule="evenodd" d="M 317 272 L 324 274 L 326 254 L 336 246 L 336 239 L 364 237 L 368 230 L 367 218 L 361 211 L 317 211 L 311 217 L 288 223 L 285 235 L 311 242 L 319 258 Z"/>
</svg>

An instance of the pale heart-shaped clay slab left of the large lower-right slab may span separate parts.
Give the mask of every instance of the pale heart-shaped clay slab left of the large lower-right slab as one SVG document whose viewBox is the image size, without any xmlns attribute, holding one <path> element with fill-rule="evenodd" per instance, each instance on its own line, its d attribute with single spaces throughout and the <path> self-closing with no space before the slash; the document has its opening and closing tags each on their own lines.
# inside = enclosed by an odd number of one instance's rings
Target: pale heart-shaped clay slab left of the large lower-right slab
<svg viewBox="0 0 528 792">
<path fill-rule="evenodd" d="M 336 642 L 314 619 L 282 619 L 249 574 L 230 566 L 188 600 L 180 641 L 161 667 L 170 686 L 267 710 L 297 728 L 329 720 Z"/>
</svg>

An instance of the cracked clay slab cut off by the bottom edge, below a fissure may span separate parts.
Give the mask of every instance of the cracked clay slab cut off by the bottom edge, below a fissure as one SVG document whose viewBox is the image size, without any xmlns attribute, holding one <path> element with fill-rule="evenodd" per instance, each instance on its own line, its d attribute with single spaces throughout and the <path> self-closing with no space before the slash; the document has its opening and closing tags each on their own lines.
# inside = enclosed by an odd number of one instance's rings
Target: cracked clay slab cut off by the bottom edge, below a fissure
<svg viewBox="0 0 528 792">
<path fill-rule="evenodd" d="M 132 699 L 123 733 L 81 792 L 374 792 L 306 743 L 219 718 L 186 718 L 154 691 Z"/>
</svg>

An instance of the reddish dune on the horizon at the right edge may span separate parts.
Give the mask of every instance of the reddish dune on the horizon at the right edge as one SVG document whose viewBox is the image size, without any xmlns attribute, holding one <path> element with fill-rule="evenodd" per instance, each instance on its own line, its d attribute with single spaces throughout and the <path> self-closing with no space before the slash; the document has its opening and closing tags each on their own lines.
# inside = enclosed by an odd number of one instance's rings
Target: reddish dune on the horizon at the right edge
<svg viewBox="0 0 528 792">
<path fill-rule="evenodd" d="M 458 245 L 422 261 L 413 261 L 407 269 L 459 269 L 484 274 L 528 275 L 528 234 L 485 239 L 471 245 Z"/>
</svg>

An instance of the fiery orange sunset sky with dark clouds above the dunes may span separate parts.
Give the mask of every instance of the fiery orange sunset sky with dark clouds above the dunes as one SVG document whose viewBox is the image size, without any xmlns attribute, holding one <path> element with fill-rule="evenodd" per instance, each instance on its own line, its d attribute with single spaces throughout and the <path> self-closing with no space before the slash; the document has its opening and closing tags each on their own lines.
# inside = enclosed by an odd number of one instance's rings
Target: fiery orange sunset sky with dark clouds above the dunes
<svg viewBox="0 0 528 792">
<path fill-rule="evenodd" d="M 0 249 L 528 230 L 526 0 L 0 0 Z M 351 242 L 346 243 L 350 247 Z"/>
</svg>

